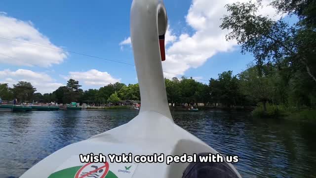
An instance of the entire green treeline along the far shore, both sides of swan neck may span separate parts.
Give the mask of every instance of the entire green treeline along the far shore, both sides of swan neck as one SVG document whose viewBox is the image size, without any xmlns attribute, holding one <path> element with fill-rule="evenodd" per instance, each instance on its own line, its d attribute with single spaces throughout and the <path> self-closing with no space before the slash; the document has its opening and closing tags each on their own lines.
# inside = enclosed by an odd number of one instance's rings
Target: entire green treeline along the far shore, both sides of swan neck
<svg viewBox="0 0 316 178">
<path fill-rule="evenodd" d="M 208 106 L 256 106 L 262 103 L 291 107 L 313 107 L 316 105 L 316 85 L 305 72 L 292 74 L 291 66 L 266 64 L 250 65 L 238 75 L 226 71 L 208 84 L 192 78 L 165 79 L 169 103 L 204 103 Z M 28 102 L 70 103 L 84 101 L 116 102 L 118 100 L 140 100 L 138 84 L 126 86 L 122 83 L 109 84 L 100 89 L 80 89 L 79 82 L 70 79 L 66 86 L 52 93 L 41 94 L 28 82 L 19 82 L 9 88 L 0 84 L 2 100 Z"/>
</svg>

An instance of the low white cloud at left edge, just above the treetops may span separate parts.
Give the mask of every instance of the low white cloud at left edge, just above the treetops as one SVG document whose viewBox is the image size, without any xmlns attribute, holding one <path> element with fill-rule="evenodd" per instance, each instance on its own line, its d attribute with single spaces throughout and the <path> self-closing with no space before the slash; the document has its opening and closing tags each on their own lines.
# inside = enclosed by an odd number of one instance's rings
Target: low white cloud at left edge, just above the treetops
<svg viewBox="0 0 316 178">
<path fill-rule="evenodd" d="M 11 71 L 5 69 L 0 71 L 0 83 L 7 83 L 10 87 L 17 84 L 18 81 L 30 82 L 36 89 L 36 92 L 49 93 L 56 90 L 63 84 L 56 83 L 54 79 L 45 73 L 33 72 L 25 69 Z"/>
</svg>

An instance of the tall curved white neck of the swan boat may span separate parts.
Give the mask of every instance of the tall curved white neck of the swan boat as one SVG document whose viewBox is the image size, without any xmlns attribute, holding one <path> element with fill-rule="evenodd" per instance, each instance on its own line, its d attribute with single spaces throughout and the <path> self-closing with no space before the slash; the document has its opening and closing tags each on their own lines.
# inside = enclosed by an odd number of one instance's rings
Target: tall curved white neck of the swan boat
<svg viewBox="0 0 316 178">
<path fill-rule="evenodd" d="M 141 95 L 140 112 L 156 111 L 172 120 L 158 38 L 158 12 L 161 9 L 164 10 L 161 0 L 133 0 L 131 42 Z"/>
</svg>

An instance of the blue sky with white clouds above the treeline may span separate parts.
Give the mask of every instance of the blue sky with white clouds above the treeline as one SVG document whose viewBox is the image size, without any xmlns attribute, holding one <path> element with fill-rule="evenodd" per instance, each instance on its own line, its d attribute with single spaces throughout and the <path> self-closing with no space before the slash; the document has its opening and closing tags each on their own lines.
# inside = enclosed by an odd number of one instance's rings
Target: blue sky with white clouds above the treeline
<svg viewBox="0 0 316 178">
<path fill-rule="evenodd" d="M 208 83 L 224 71 L 236 75 L 246 69 L 254 58 L 242 55 L 235 41 L 225 40 L 228 31 L 219 28 L 220 18 L 227 13 L 224 5 L 235 1 L 164 0 L 168 30 L 162 66 L 169 72 L 164 73 L 166 78 L 185 75 Z M 267 6 L 269 2 L 263 0 L 259 13 L 280 18 Z M 27 81 L 41 93 L 66 85 L 70 78 L 78 80 L 82 89 L 137 83 L 135 67 L 122 64 L 134 64 L 129 37 L 131 3 L 1 0 L 0 83 L 12 87 Z"/>
</svg>

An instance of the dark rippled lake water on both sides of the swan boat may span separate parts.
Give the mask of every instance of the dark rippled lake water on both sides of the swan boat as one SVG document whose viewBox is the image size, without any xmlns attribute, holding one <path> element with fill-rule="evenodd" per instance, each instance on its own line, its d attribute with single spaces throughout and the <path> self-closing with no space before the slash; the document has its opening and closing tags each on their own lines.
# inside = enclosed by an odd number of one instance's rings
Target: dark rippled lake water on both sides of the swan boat
<svg viewBox="0 0 316 178">
<path fill-rule="evenodd" d="M 0 113 L 0 178 L 16 178 L 54 151 L 127 123 L 138 111 Z M 316 125 L 247 113 L 174 112 L 175 123 L 222 154 L 244 178 L 316 178 Z"/>
</svg>

